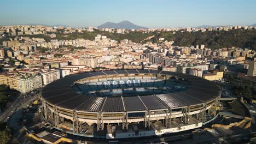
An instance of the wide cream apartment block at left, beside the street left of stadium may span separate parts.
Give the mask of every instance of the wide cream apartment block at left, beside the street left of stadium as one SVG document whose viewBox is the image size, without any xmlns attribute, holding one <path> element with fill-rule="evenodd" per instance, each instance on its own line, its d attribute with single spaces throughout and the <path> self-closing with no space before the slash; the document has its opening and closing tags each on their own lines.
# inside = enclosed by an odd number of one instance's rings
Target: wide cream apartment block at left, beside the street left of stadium
<svg viewBox="0 0 256 144">
<path fill-rule="evenodd" d="M 21 93 L 31 92 L 34 89 L 37 89 L 43 86 L 41 75 L 20 77 L 17 79 L 17 83 L 18 83 L 18 91 L 20 91 Z"/>
</svg>

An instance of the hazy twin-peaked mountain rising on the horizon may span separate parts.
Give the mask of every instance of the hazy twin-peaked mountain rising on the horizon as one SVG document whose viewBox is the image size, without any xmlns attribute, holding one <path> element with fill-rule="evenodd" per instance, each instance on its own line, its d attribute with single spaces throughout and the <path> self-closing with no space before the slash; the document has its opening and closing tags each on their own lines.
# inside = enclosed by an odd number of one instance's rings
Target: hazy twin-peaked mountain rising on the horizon
<svg viewBox="0 0 256 144">
<path fill-rule="evenodd" d="M 147 27 L 137 26 L 130 21 L 121 21 L 118 23 L 106 22 L 100 26 L 97 26 L 97 28 L 115 28 L 115 29 L 123 29 L 123 28 L 125 28 L 125 29 L 141 29 L 141 28 L 144 28 L 144 29 L 148 29 Z"/>
</svg>

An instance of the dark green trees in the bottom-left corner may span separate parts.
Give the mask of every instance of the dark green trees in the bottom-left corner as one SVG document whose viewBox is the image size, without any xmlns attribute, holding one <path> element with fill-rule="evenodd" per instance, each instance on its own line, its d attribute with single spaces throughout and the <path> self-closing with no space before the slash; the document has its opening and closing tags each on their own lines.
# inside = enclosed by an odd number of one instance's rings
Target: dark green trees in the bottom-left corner
<svg viewBox="0 0 256 144">
<path fill-rule="evenodd" d="M 11 138 L 11 130 L 7 127 L 7 123 L 0 122 L 0 143 L 8 143 Z"/>
</svg>

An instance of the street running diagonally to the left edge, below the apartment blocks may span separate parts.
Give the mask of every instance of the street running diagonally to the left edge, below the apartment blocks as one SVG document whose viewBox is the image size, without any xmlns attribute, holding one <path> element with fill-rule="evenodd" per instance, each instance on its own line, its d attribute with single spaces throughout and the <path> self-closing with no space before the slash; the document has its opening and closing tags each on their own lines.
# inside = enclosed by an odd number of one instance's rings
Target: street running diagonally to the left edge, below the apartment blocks
<svg viewBox="0 0 256 144">
<path fill-rule="evenodd" d="M 7 109 L 5 110 L 2 115 L 0 116 L 0 121 L 4 121 L 6 122 L 9 118 L 9 116 L 11 116 L 16 110 L 20 109 L 21 106 L 23 106 L 24 104 L 28 104 L 33 100 L 38 99 L 40 96 L 40 94 L 35 94 L 32 95 L 31 97 L 27 97 L 27 98 L 22 98 L 21 96 L 19 96 L 14 103 Z"/>
</svg>

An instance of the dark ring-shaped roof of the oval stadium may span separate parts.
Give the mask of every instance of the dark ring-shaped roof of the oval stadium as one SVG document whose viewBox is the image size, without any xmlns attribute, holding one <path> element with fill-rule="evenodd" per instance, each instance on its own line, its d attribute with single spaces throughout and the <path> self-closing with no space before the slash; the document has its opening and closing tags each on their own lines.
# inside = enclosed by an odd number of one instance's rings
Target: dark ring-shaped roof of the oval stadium
<svg viewBox="0 0 256 144">
<path fill-rule="evenodd" d="M 86 77 L 108 74 L 153 73 L 178 76 L 190 83 L 184 91 L 144 95 L 135 97 L 95 97 L 79 94 L 72 89 L 72 84 Z M 75 74 L 51 82 L 42 91 L 42 98 L 49 104 L 63 109 L 84 112 L 122 112 L 157 109 L 175 109 L 189 105 L 203 104 L 220 95 L 220 88 L 211 81 L 200 77 L 160 70 L 112 70 Z"/>
</svg>

